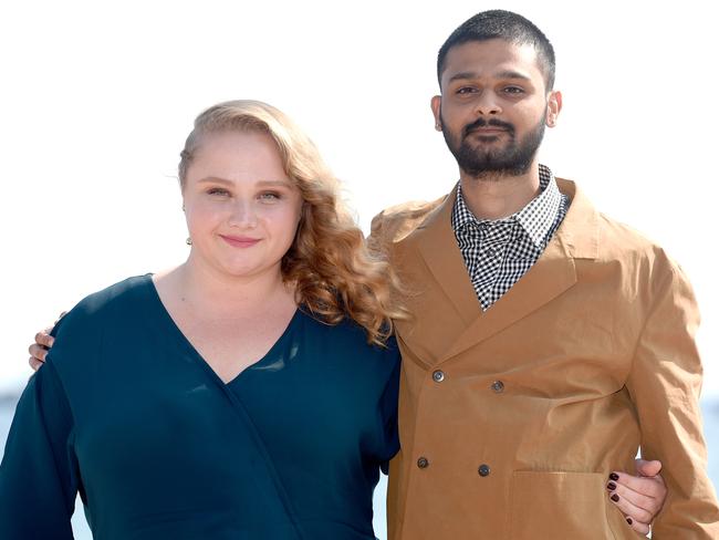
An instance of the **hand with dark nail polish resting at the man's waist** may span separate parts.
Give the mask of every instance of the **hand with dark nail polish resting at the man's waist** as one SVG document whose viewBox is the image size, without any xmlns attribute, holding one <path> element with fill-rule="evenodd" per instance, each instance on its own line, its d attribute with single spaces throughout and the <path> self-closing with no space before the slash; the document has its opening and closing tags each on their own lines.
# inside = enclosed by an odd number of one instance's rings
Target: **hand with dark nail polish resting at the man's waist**
<svg viewBox="0 0 719 540">
<path fill-rule="evenodd" d="M 652 521 L 656 518 L 664 500 L 667 498 L 667 487 L 659 476 L 660 461 L 637 459 L 638 476 L 614 471 L 609 474 L 606 489 L 612 502 L 622 510 L 627 523 L 642 534 L 648 534 Z"/>
</svg>

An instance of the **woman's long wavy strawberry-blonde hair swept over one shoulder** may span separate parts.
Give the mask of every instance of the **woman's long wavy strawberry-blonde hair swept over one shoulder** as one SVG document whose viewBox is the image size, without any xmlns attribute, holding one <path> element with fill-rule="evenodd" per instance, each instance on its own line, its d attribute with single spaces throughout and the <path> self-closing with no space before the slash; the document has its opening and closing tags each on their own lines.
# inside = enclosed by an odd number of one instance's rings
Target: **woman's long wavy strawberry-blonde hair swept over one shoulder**
<svg viewBox="0 0 719 540">
<path fill-rule="evenodd" d="M 393 319 L 407 318 L 397 277 L 379 253 L 369 251 L 340 197 L 340 183 L 284 113 L 250 100 L 202 112 L 180 153 L 180 186 L 202 136 L 228 131 L 270 135 L 285 174 L 302 195 L 300 225 L 281 264 L 283 280 L 294 284 L 296 302 L 329 324 L 350 318 L 365 329 L 369 343 L 383 344 L 394 331 Z"/>
</svg>

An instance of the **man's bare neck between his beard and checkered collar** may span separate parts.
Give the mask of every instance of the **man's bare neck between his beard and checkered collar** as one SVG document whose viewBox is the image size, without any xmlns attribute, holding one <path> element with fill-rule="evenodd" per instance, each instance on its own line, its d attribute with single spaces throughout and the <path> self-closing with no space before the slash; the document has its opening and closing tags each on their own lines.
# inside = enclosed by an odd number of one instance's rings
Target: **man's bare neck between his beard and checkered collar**
<svg viewBox="0 0 719 540">
<path fill-rule="evenodd" d="M 477 219 L 501 219 L 524 208 L 540 193 L 539 164 L 520 176 L 475 178 L 460 172 L 462 197 Z"/>
</svg>

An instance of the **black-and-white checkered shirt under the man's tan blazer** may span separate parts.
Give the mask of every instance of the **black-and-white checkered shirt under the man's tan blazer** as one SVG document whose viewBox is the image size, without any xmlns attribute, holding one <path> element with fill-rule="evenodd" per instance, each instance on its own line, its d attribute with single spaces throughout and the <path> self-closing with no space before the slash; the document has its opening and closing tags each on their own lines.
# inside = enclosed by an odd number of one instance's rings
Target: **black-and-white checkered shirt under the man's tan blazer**
<svg viewBox="0 0 719 540">
<path fill-rule="evenodd" d="M 532 268 L 566 215 L 570 199 L 560 193 L 554 175 L 544 165 L 539 173 L 542 193 L 502 219 L 477 219 L 457 186 L 452 229 L 482 311 Z"/>
</svg>

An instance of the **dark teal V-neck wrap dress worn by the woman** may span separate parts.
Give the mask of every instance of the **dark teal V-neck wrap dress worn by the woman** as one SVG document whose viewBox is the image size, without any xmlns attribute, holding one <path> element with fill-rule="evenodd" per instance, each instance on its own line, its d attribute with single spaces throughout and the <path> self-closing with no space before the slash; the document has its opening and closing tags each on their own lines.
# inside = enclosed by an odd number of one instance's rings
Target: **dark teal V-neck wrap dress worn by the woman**
<svg viewBox="0 0 719 540">
<path fill-rule="evenodd" d="M 0 465 L 0 538 L 367 540 L 398 450 L 396 344 L 298 310 L 225 384 L 150 277 L 83 300 L 30 380 Z"/>
</svg>

